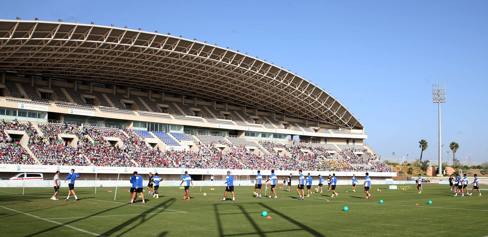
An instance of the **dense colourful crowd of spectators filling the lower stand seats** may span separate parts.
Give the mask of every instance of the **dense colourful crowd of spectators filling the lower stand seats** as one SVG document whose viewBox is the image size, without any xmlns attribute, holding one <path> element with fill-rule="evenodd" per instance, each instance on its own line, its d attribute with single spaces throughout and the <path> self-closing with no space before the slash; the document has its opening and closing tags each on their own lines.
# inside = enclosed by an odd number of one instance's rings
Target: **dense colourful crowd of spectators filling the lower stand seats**
<svg viewBox="0 0 488 237">
<path fill-rule="evenodd" d="M 260 141 L 269 153 L 250 151 L 222 139 L 209 145 L 197 144 L 198 151 L 160 150 L 146 143 L 134 130 L 79 127 L 69 124 L 39 124 L 42 136 L 30 122 L 1 122 L 1 163 L 34 164 L 20 143 L 10 141 L 4 129 L 26 131 L 28 147 L 41 164 L 96 165 L 130 167 L 204 168 L 204 169 L 275 169 L 317 171 L 391 171 L 383 162 L 373 160 L 375 154 L 363 150 L 365 158 L 355 154 L 355 148 L 336 150 L 341 158 L 322 146 L 290 142 Z M 77 144 L 71 144 L 58 134 L 73 134 Z M 106 139 L 120 138 L 118 139 Z M 219 145 L 220 144 L 220 145 Z M 225 145 L 225 146 L 222 146 Z M 225 147 L 228 147 L 226 149 Z M 225 149 L 222 149 L 225 148 Z M 279 150 L 279 151 L 278 151 Z M 280 152 L 283 151 L 283 152 Z"/>
</svg>

